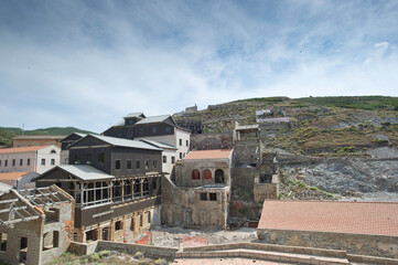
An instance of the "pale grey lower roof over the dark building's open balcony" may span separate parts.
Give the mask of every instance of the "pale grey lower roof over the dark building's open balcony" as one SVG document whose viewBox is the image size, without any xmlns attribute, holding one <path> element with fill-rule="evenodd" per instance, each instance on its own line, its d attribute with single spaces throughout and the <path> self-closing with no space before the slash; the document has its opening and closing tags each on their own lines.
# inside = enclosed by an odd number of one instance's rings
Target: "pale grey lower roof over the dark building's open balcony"
<svg viewBox="0 0 398 265">
<path fill-rule="evenodd" d="M 115 179 L 114 176 L 107 174 L 89 165 L 62 165 L 58 168 L 72 173 L 82 180 L 106 180 Z"/>
</svg>

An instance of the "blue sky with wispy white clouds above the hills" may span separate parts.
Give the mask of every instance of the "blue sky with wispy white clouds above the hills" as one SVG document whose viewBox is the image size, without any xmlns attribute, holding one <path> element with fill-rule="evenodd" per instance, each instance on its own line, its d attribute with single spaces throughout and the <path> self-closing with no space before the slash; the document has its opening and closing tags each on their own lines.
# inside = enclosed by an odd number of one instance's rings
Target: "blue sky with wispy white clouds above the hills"
<svg viewBox="0 0 398 265">
<path fill-rule="evenodd" d="M 0 0 L 0 127 L 398 96 L 397 49 L 397 0 Z"/>
</svg>

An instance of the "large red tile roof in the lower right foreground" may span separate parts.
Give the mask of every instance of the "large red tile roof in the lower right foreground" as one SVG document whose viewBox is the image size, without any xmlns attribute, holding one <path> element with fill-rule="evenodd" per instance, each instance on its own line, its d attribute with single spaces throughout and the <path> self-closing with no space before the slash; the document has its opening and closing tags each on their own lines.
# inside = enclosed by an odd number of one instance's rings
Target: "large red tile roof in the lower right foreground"
<svg viewBox="0 0 398 265">
<path fill-rule="evenodd" d="M 398 203 L 265 201 L 258 229 L 398 236 Z"/>
</svg>

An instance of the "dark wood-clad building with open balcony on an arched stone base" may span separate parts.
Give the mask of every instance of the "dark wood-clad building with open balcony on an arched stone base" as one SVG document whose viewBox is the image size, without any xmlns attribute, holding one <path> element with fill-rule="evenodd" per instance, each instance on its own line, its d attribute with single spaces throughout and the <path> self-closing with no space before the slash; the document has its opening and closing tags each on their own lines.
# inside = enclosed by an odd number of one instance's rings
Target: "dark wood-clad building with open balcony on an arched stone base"
<svg viewBox="0 0 398 265">
<path fill-rule="evenodd" d="M 144 141 L 87 135 L 68 147 L 69 165 L 36 179 L 75 199 L 74 240 L 133 242 L 160 224 L 162 149 Z"/>
</svg>

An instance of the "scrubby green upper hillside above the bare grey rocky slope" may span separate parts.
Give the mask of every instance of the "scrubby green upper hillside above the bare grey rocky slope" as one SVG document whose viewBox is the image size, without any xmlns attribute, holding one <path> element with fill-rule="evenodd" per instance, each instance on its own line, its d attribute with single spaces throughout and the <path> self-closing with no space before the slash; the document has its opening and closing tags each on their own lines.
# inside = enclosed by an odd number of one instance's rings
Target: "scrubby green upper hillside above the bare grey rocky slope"
<svg viewBox="0 0 398 265">
<path fill-rule="evenodd" d="M 255 112 L 261 109 L 282 109 L 290 119 L 287 128 L 261 132 L 267 148 L 321 157 L 363 157 L 369 148 L 398 146 L 397 97 L 248 98 L 174 117 L 202 120 L 205 134 L 219 132 L 228 120 L 255 124 Z"/>
</svg>

